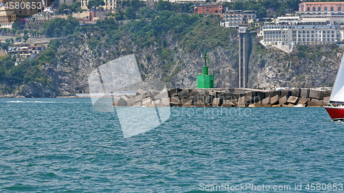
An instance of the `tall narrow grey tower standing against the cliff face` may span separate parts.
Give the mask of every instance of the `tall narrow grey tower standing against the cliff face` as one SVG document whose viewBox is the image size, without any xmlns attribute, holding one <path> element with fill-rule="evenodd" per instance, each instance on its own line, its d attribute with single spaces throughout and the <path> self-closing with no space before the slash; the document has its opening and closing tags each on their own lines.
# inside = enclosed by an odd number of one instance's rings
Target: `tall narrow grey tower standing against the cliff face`
<svg viewBox="0 0 344 193">
<path fill-rule="evenodd" d="M 239 25 L 239 88 L 247 87 L 250 33 L 246 26 Z"/>
</svg>

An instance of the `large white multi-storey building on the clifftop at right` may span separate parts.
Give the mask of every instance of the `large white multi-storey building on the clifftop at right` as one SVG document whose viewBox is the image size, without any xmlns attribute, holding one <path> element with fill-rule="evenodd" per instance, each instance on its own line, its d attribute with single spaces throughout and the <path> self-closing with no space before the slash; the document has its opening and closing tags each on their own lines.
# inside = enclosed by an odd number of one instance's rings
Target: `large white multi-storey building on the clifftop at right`
<svg viewBox="0 0 344 193">
<path fill-rule="evenodd" d="M 294 45 L 339 44 L 344 41 L 343 27 L 335 25 L 331 18 L 316 20 L 304 16 L 280 16 L 275 22 L 264 23 L 261 35 L 262 45 L 277 47 L 284 52 L 292 52 Z"/>
</svg>

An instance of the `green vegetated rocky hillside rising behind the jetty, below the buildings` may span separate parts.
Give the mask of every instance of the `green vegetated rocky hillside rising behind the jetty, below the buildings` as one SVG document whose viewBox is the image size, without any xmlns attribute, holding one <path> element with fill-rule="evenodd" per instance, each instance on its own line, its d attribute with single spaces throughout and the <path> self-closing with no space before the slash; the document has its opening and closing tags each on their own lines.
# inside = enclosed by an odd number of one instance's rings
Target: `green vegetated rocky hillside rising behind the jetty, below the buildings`
<svg viewBox="0 0 344 193">
<path fill-rule="evenodd" d="M 133 1 L 129 1 L 128 5 L 131 5 L 130 2 Z M 259 2 L 248 3 L 254 6 Z M 186 12 L 191 12 L 191 7 L 185 6 L 187 4 L 170 4 L 168 1 L 160 1 L 157 9 L 134 6 L 133 9 L 137 11 L 135 17 L 138 20 L 125 24 L 116 20 L 118 15 L 108 16 L 89 27 L 79 27 L 78 21 L 72 16 L 67 20 L 53 19 L 44 24 L 45 29 L 42 32 L 50 37 L 67 36 L 67 41 L 51 41 L 38 58 L 25 60 L 17 66 L 14 65 L 16 58 L 0 58 L 0 82 L 14 87 L 28 82 L 41 82 L 50 87 L 54 85 L 58 89 L 58 82 L 68 84 L 67 81 L 78 78 L 83 81 L 83 85 L 73 86 L 64 91 L 86 91 L 85 77 L 90 69 L 120 56 L 136 54 L 142 79 L 154 77 L 171 83 L 173 87 L 193 87 L 194 76 L 202 67 L 200 54 L 207 49 L 217 71 L 217 87 L 236 87 L 237 31 L 234 28 L 220 27 L 220 18 L 217 15 L 204 17 L 189 14 Z M 257 5 L 257 8 L 259 6 Z M 264 8 L 266 6 L 268 4 L 264 5 Z M 122 17 L 128 19 L 126 13 L 123 13 Z M 17 23 L 18 30 L 21 30 L 20 27 L 21 23 Z M 330 85 L 329 82 L 332 82 L 332 79 L 323 73 L 320 78 L 317 77 L 321 81 L 306 82 L 305 79 L 314 77 L 310 76 L 312 68 L 318 71 L 328 69 L 327 73 L 336 71 L 336 53 L 339 52 L 336 45 L 299 46 L 294 53 L 286 54 L 279 50 L 266 49 L 257 42 L 258 40 L 254 41 L 250 57 L 250 87 L 262 88 L 266 83 L 264 87 L 268 88 L 279 82 L 292 86 Z M 1 46 L 6 47 L 9 44 L 10 40 Z M 323 60 L 323 57 L 327 59 Z M 335 60 L 330 60 L 331 58 Z M 79 67 L 79 63 L 87 63 L 89 66 Z M 54 75 L 54 71 L 57 70 L 60 72 Z M 63 81 L 57 80 L 63 76 Z"/>
</svg>

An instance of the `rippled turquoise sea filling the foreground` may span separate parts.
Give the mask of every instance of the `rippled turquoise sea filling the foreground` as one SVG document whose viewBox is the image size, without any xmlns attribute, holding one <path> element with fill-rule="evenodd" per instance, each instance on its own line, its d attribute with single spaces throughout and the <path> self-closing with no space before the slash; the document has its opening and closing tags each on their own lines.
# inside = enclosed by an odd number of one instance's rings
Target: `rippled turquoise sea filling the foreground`
<svg viewBox="0 0 344 193">
<path fill-rule="evenodd" d="M 171 108 L 125 138 L 89 98 L 0 98 L 0 125 L 0 192 L 343 192 L 344 123 L 323 108 Z"/>
</svg>

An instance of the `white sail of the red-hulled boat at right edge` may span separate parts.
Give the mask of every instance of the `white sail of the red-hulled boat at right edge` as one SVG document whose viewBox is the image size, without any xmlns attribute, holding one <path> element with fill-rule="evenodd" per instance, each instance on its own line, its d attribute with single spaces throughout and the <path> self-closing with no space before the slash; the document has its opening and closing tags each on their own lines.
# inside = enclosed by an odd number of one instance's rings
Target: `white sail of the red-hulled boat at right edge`
<svg viewBox="0 0 344 193">
<path fill-rule="evenodd" d="M 344 54 L 330 96 L 331 102 L 344 102 Z"/>
</svg>

